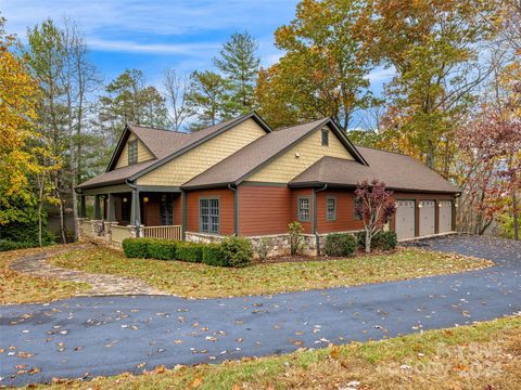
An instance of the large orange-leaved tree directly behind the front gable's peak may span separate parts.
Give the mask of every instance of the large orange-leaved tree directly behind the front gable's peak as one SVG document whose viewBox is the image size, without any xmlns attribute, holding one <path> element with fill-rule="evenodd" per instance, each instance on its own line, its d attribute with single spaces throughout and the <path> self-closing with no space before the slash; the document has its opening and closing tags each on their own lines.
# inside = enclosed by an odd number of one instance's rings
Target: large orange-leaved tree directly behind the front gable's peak
<svg viewBox="0 0 521 390">
<path fill-rule="evenodd" d="M 275 34 L 284 55 L 263 75 L 259 112 L 268 122 L 289 125 L 331 116 L 347 131 L 357 109 L 373 103 L 367 78 L 372 68 L 364 49 L 367 1 L 303 0 L 296 17 Z M 268 96 L 279 104 L 266 104 Z M 287 122 L 277 109 L 289 114 Z"/>
</svg>

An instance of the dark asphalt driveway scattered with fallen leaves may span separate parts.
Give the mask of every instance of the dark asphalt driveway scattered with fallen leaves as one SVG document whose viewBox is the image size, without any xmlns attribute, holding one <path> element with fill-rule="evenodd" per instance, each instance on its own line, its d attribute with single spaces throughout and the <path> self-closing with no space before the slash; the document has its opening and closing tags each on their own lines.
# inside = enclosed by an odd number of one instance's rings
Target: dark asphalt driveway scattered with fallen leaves
<svg viewBox="0 0 521 390">
<path fill-rule="evenodd" d="M 287 353 L 521 311 L 520 243 L 472 236 L 425 243 L 497 266 L 269 297 L 99 297 L 4 307 L 0 385 Z M 26 367 L 16 369 L 21 364 Z M 34 374 L 23 373 L 30 369 Z"/>
</svg>

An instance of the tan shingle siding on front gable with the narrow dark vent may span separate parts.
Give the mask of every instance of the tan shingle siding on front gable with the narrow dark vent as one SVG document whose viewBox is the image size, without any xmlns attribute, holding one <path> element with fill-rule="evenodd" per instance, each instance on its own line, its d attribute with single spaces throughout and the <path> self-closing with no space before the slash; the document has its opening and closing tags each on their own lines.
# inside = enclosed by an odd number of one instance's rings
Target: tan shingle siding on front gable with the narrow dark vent
<svg viewBox="0 0 521 390">
<path fill-rule="evenodd" d="M 321 134 L 321 129 L 315 130 L 247 180 L 287 183 L 323 156 L 354 159 L 332 131 L 329 131 L 329 146 L 322 146 Z M 295 157 L 295 153 L 298 153 L 298 158 Z"/>
</svg>

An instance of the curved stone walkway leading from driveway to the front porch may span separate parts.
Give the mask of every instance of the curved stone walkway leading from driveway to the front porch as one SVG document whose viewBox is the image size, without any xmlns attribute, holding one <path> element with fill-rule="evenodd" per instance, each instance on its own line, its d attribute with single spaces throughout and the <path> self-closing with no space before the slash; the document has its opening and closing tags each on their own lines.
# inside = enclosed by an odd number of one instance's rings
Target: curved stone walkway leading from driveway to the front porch
<svg viewBox="0 0 521 390">
<path fill-rule="evenodd" d="M 91 244 L 78 245 L 74 249 L 59 249 L 20 258 L 11 263 L 11 269 L 33 276 L 52 277 L 68 282 L 84 282 L 92 286 L 82 296 L 128 296 L 128 295 L 168 295 L 149 286 L 140 280 L 120 277 L 106 274 L 93 274 L 82 271 L 67 270 L 51 265 L 48 259 L 51 256 L 64 253 L 75 249 L 91 249 Z"/>
</svg>

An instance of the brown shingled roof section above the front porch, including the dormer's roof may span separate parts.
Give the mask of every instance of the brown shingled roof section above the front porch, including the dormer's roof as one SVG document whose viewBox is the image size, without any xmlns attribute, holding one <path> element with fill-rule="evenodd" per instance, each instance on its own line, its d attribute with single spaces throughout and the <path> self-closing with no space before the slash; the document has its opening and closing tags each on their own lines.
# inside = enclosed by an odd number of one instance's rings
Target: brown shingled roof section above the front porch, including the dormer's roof
<svg viewBox="0 0 521 390">
<path fill-rule="evenodd" d="M 269 126 L 255 112 L 240 116 L 238 118 L 226 120 L 224 122 L 196 131 L 194 133 L 180 133 L 163 129 L 127 125 L 122 136 L 119 138 L 118 144 L 112 156 L 111 162 L 109 164 L 106 172 L 77 185 L 77 187 L 82 188 L 114 183 L 114 180 L 116 180 L 114 178 L 117 178 L 118 182 L 124 182 L 126 180 L 134 181 L 137 178 L 191 151 L 192 148 L 201 145 L 202 143 L 212 140 L 213 138 L 221 134 L 223 132 L 233 128 L 237 125 L 242 123 L 247 119 L 255 120 L 267 133 L 271 132 Z M 126 140 L 128 139 L 130 133 L 136 134 L 136 136 L 155 156 L 155 159 L 150 161 L 143 161 L 140 164 L 134 164 L 132 167 L 135 168 L 132 169 L 126 169 L 129 168 L 129 166 L 114 169 L 117 157 L 122 153 Z M 138 167 L 139 169 L 136 167 Z M 111 173 L 113 171 L 119 172 L 117 174 L 114 173 L 107 176 L 107 173 Z M 107 178 L 111 178 L 110 182 L 106 181 Z"/>
</svg>

